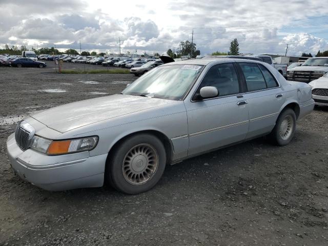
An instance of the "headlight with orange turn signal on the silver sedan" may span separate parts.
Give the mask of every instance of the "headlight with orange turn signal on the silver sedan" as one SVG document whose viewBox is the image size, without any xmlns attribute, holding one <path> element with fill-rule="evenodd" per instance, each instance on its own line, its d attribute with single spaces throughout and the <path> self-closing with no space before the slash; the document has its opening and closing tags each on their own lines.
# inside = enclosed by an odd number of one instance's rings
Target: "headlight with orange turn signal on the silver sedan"
<svg viewBox="0 0 328 246">
<path fill-rule="evenodd" d="M 61 155 L 92 150 L 96 147 L 97 142 L 97 136 L 68 140 L 49 140 L 34 136 L 31 142 L 31 148 L 48 155 Z"/>
</svg>

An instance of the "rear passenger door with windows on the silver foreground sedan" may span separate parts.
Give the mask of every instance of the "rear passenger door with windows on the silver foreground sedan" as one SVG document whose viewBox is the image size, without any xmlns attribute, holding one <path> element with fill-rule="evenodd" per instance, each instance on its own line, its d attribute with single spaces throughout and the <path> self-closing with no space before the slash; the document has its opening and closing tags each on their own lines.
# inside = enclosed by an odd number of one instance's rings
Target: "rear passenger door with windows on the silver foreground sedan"
<svg viewBox="0 0 328 246">
<path fill-rule="evenodd" d="M 277 79 L 262 64 L 238 63 L 247 86 L 250 123 L 247 138 L 272 131 L 285 98 Z"/>
</svg>

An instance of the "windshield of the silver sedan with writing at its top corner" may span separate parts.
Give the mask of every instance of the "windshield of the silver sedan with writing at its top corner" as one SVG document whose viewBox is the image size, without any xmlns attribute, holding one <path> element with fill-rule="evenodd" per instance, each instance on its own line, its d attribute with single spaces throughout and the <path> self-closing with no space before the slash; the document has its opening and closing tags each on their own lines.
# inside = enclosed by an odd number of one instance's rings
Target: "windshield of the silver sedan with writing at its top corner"
<svg viewBox="0 0 328 246">
<path fill-rule="evenodd" d="M 157 67 L 135 80 L 122 94 L 181 100 L 202 68 L 198 65 Z"/>
</svg>

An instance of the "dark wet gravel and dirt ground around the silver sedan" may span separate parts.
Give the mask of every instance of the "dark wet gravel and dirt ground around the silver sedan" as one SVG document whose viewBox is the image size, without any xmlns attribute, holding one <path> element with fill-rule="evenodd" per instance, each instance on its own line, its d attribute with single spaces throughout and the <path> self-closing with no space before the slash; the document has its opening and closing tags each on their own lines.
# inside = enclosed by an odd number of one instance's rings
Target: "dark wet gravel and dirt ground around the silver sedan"
<svg viewBox="0 0 328 246">
<path fill-rule="evenodd" d="M 48 192 L 12 174 L 14 124 L 135 79 L 53 71 L 0 67 L 0 245 L 328 245 L 327 107 L 301 119 L 288 146 L 260 138 L 192 158 L 140 195 Z"/>
</svg>

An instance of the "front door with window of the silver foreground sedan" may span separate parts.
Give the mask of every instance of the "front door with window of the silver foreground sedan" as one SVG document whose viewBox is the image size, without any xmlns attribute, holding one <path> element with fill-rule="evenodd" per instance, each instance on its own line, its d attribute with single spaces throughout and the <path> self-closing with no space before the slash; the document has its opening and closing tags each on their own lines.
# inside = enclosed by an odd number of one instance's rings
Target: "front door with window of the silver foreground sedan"
<svg viewBox="0 0 328 246">
<path fill-rule="evenodd" d="M 215 98 L 185 101 L 188 117 L 188 155 L 216 149 L 241 141 L 249 126 L 247 101 L 233 63 L 214 65 L 195 93 L 204 86 L 214 86 Z"/>
</svg>

